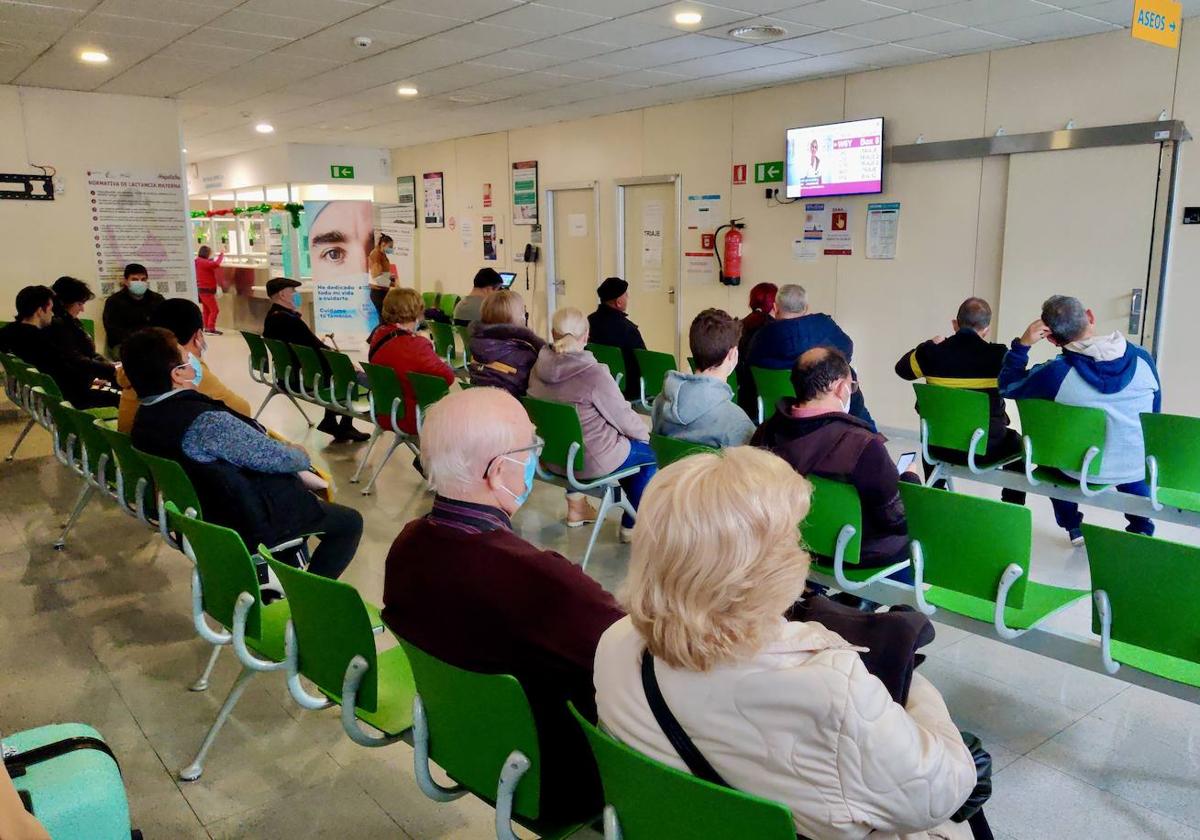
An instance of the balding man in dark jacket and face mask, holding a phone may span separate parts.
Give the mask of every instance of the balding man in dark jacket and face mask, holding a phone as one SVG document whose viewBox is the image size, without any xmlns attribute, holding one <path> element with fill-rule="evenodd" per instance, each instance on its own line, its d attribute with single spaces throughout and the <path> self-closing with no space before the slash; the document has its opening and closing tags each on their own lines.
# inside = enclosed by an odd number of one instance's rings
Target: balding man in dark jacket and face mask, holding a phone
<svg viewBox="0 0 1200 840">
<path fill-rule="evenodd" d="M 896 473 L 882 434 L 850 414 L 854 378 L 840 350 L 818 347 L 792 370 L 796 398 L 780 401 L 774 415 L 751 438 L 802 475 L 820 475 L 854 486 L 863 505 L 860 565 L 881 568 L 908 558 L 908 522 L 900 481 L 920 484 L 919 467 Z M 911 570 L 894 575 L 912 582 Z"/>
</svg>

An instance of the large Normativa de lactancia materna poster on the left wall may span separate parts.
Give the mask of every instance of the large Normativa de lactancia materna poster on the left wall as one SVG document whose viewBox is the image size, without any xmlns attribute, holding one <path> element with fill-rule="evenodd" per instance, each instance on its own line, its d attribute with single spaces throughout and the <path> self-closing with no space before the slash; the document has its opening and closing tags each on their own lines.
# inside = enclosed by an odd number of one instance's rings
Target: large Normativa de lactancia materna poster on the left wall
<svg viewBox="0 0 1200 840">
<path fill-rule="evenodd" d="M 120 284 L 127 263 L 142 263 L 155 292 L 196 300 L 179 173 L 89 169 L 88 193 L 102 296 Z"/>
</svg>

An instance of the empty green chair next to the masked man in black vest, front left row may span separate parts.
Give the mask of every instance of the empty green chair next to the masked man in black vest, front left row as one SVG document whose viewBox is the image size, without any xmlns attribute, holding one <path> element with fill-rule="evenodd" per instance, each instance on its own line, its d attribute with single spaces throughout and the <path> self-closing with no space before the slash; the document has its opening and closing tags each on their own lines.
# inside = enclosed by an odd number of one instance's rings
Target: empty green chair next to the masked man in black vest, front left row
<svg viewBox="0 0 1200 840">
<path fill-rule="evenodd" d="M 238 532 L 185 516 L 174 502 L 167 503 L 164 516 L 170 529 L 180 534 L 184 553 L 193 564 L 192 623 L 200 638 L 212 646 L 204 673 L 192 690 L 208 688 L 221 648 L 232 646 L 241 662 L 241 673 L 200 742 L 196 757 L 179 772 L 184 781 L 194 781 L 204 773 L 209 749 L 251 678 L 287 666 L 283 637 L 292 611 L 287 600 L 263 604 L 254 559 Z M 205 617 L 216 622 L 218 629 L 214 630 Z"/>
</svg>

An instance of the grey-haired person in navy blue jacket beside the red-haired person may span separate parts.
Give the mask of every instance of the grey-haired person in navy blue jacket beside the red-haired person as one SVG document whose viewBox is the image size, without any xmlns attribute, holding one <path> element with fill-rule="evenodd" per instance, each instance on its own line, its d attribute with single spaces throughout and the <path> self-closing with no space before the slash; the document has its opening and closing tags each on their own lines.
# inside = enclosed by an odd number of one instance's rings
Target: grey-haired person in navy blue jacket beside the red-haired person
<svg viewBox="0 0 1200 840">
<path fill-rule="evenodd" d="M 758 330 L 750 346 L 752 367 L 788 371 L 814 347 L 832 347 L 846 356 L 846 361 L 854 358 L 854 342 L 836 322 L 823 312 L 809 312 L 809 295 L 803 286 L 780 287 L 774 316 L 773 322 Z M 854 380 L 858 382 L 857 374 Z M 876 431 L 862 389 L 857 389 L 851 397 L 850 414 L 866 422 L 872 432 Z"/>
</svg>

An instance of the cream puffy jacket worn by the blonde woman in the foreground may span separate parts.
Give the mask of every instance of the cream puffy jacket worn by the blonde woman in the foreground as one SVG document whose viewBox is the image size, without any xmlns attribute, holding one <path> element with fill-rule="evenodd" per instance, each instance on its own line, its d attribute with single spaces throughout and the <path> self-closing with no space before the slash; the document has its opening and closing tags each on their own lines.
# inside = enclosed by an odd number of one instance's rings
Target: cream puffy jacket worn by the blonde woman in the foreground
<svg viewBox="0 0 1200 840">
<path fill-rule="evenodd" d="M 686 770 L 646 702 L 644 643 L 630 619 L 596 648 L 600 721 L 618 739 Z M 733 787 L 786 804 L 812 840 L 971 840 L 949 822 L 976 784 L 974 762 L 937 690 L 913 674 L 907 708 L 824 626 L 780 622 L 749 661 L 707 673 L 661 660 L 667 706 Z"/>
</svg>

